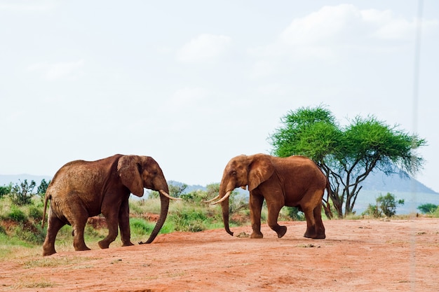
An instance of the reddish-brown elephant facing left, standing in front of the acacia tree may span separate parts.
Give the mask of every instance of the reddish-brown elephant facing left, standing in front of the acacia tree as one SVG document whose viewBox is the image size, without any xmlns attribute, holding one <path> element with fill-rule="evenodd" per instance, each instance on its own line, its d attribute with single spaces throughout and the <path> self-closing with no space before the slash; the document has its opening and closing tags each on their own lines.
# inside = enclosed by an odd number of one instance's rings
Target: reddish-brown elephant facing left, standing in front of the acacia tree
<svg viewBox="0 0 439 292">
<path fill-rule="evenodd" d="M 325 189 L 330 192 L 330 184 L 311 159 L 299 155 L 278 158 L 260 153 L 232 158 L 224 169 L 219 195 L 206 201 L 212 204 L 221 203 L 224 229 L 232 236 L 234 233 L 229 228 L 229 195 L 238 187 L 248 187 L 250 191 L 251 238 L 263 237 L 261 209 L 264 200 L 268 209 L 268 225 L 279 238 L 287 232 L 286 226 L 278 225 L 277 221 L 283 206 L 298 207 L 304 212 L 304 237 L 326 237 L 321 209 L 323 194 Z"/>
</svg>

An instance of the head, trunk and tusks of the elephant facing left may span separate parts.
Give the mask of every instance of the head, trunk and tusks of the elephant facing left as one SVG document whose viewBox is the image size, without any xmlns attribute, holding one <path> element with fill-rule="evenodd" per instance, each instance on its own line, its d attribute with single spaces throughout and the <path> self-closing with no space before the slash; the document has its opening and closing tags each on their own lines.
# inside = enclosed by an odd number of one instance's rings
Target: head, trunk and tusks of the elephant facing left
<svg viewBox="0 0 439 292">
<path fill-rule="evenodd" d="M 239 155 L 227 163 L 219 185 L 219 195 L 213 200 L 219 199 L 212 204 L 221 203 L 222 219 L 224 228 L 233 235 L 229 228 L 229 195 L 235 188 L 246 188 L 251 192 L 259 184 L 269 179 L 274 172 L 274 167 L 269 156 L 262 154 Z"/>
</svg>

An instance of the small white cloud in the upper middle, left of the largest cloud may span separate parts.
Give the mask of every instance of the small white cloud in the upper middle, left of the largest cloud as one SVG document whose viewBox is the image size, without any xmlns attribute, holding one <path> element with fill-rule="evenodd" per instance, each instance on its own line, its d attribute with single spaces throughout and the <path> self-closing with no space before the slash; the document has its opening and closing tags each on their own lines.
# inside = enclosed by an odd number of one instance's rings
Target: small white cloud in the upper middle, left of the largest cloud
<svg viewBox="0 0 439 292">
<path fill-rule="evenodd" d="M 229 36 L 200 34 L 177 51 L 181 62 L 211 62 L 223 55 L 231 45 Z"/>
</svg>

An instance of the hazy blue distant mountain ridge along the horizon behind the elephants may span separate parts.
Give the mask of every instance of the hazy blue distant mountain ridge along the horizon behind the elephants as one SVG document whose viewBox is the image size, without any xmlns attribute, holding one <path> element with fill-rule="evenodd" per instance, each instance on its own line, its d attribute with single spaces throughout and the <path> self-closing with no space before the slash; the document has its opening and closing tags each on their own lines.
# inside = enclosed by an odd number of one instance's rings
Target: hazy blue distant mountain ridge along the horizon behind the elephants
<svg viewBox="0 0 439 292">
<path fill-rule="evenodd" d="M 24 181 L 35 181 L 36 186 L 39 186 L 41 180 L 45 179 L 46 181 L 50 181 L 52 176 L 41 176 L 41 175 L 32 175 L 32 174 L 0 174 L 0 186 L 8 185 L 9 183 L 18 183 L 20 180 Z M 178 181 L 168 181 L 168 183 L 173 183 L 176 185 L 183 184 Z M 429 193 L 429 194 L 438 194 L 435 190 L 428 188 L 423 183 L 417 181 L 416 179 L 410 177 L 402 178 L 398 174 L 391 174 L 386 176 L 382 172 L 377 172 L 370 174 L 367 176 L 367 179 L 361 183 L 363 186 L 363 190 L 374 190 L 381 192 L 410 192 L 412 190 L 416 190 L 417 193 Z M 185 193 L 189 193 L 193 190 L 205 190 L 206 186 L 201 185 L 188 185 Z M 239 189 L 241 190 L 241 189 Z M 246 190 L 243 190 L 247 192 Z"/>
</svg>

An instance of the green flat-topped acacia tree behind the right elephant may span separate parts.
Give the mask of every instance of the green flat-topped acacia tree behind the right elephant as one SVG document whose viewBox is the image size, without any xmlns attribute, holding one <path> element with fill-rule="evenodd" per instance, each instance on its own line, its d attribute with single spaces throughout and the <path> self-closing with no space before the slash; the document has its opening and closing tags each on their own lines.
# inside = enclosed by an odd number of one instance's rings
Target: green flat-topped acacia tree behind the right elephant
<svg viewBox="0 0 439 292">
<path fill-rule="evenodd" d="M 352 212 L 361 183 L 374 169 L 408 176 L 424 163 L 416 153 L 417 148 L 426 145 L 424 139 L 374 116 L 357 116 L 346 127 L 340 127 L 329 110 L 318 106 L 289 111 L 281 123 L 283 127 L 269 136 L 272 154 L 305 155 L 320 166 L 332 190 L 323 200 L 330 218 L 330 200 L 340 218 Z"/>
</svg>

